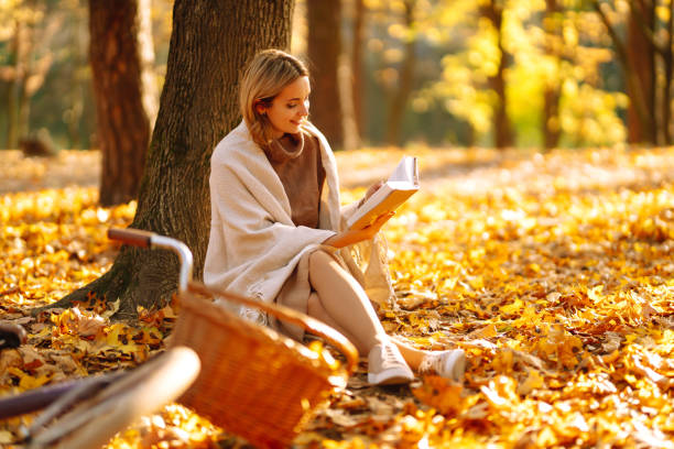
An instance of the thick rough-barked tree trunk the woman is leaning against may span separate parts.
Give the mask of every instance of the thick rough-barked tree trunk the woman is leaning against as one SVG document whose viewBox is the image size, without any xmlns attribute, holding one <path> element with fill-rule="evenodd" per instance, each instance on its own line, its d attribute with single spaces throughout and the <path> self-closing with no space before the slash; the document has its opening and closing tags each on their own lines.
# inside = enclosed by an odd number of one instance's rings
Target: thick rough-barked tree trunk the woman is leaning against
<svg viewBox="0 0 674 449">
<path fill-rule="evenodd" d="M 166 81 L 131 227 L 185 242 L 197 278 L 210 227 L 210 155 L 240 121 L 239 70 L 262 48 L 287 48 L 292 9 L 292 0 L 174 3 Z M 118 318 L 133 317 L 137 306 L 168 299 L 177 267 L 177 258 L 166 251 L 122 247 L 108 273 L 56 306 L 94 292 L 121 300 Z"/>
</svg>

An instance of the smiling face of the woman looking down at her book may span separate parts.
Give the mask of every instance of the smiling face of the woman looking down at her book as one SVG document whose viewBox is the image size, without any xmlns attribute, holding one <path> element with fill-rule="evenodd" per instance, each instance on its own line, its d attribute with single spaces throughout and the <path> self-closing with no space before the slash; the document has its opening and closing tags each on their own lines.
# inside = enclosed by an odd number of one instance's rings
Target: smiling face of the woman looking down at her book
<svg viewBox="0 0 674 449">
<path fill-rule="evenodd" d="M 271 106 L 259 105 L 259 112 L 267 112 L 279 139 L 285 133 L 300 132 L 300 124 L 308 116 L 308 96 L 312 91 L 307 76 L 301 76 L 289 84 L 273 99 Z"/>
</svg>

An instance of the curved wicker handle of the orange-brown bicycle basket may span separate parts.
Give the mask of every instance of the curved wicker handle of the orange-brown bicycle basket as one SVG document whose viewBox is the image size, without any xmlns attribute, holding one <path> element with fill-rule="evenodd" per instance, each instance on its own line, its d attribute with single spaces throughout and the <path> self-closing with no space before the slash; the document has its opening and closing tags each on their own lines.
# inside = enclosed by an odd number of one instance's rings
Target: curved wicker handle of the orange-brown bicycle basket
<svg viewBox="0 0 674 449">
<path fill-rule="evenodd" d="M 233 295 L 231 293 L 221 292 L 211 287 L 207 287 L 198 282 L 191 282 L 188 284 L 188 289 L 204 295 L 222 297 L 225 299 L 231 300 L 233 303 L 243 304 L 246 306 L 256 307 L 284 321 L 297 325 L 304 330 L 326 339 L 330 344 L 337 348 L 347 359 L 346 371 L 349 375 L 351 375 L 354 371 L 356 371 L 356 366 L 358 365 L 358 350 L 356 349 L 354 343 L 351 343 L 345 336 L 343 336 L 336 329 L 329 327 L 324 322 L 320 322 L 315 318 L 309 317 L 308 315 L 298 313 L 289 307 L 284 307 L 278 304 L 269 304 L 261 300 L 254 300 L 243 296 Z"/>
</svg>

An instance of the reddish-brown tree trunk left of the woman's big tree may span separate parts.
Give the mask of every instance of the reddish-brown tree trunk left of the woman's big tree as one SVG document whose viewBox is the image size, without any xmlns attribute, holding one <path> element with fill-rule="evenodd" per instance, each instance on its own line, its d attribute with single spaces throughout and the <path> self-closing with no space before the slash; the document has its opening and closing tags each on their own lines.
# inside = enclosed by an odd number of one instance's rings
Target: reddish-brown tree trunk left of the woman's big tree
<svg viewBox="0 0 674 449">
<path fill-rule="evenodd" d="M 142 103 L 138 0 L 89 0 L 89 57 L 102 206 L 137 198 L 145 165 L 150 122 Z"/>
</svg>

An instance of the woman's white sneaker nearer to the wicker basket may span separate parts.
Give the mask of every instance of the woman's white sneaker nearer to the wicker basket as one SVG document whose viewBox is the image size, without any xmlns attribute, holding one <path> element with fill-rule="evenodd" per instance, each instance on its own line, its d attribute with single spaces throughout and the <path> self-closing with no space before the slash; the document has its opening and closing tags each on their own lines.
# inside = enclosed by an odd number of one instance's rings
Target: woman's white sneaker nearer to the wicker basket
<svg viewBox="0 0 674 449">
<path fill-rule="evenodd" d="M 368 354 L 368 382 L 374 385 L 405 384 L 414 373 L 393 343 L 374 344 Z"/>
</svg>

